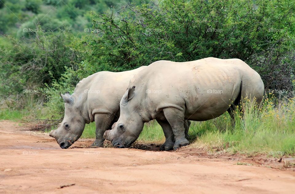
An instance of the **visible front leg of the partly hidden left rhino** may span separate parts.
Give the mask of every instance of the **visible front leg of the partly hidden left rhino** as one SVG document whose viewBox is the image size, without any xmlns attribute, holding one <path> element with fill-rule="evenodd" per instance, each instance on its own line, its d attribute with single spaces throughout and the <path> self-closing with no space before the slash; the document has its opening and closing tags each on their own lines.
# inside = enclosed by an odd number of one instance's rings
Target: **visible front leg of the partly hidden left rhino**
<svg viewBox="0 0 295 194">
<path fill-rule="evenodd" d="M 96 139 L 95 142 L 92 143 L 91 146 L 95 147 L 103 147 L 104 146 L 104 132 L 108 129 L 110 129 L 112 120 L 114 119 L 113 114 L 106 114 L 106 113 L 96 113 L 94 115 L 94 121 L 95 121 L 95 135 Z"/>
</svg>

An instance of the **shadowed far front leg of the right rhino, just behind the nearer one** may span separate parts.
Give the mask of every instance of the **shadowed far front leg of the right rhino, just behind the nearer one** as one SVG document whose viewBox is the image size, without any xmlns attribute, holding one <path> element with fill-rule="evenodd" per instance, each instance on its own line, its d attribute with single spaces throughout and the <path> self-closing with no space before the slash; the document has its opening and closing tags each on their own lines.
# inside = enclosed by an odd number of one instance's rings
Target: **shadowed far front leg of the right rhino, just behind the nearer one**
<svg viewBox="0 0 295 194">
<path fill-rule="evenodd" d="M 160 150 L 172 150 L 174 146 L 174 141 L 173 141 L 174 134 L 170 124 L 168 123 L 167 120 L 166 121 L 157 120 L 157 122 L 162 127 L 165 138 L 166 138 L 165 143 L 162 146 L 160 146 Z"/>
</svg>

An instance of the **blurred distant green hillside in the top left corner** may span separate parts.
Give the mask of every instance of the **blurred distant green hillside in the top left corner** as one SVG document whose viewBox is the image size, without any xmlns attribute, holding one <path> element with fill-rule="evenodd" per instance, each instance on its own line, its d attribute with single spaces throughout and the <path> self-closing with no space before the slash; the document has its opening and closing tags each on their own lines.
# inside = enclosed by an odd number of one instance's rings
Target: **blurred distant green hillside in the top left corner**
<svg viewBox="0 0 295 194">
<path fill-rule="evenodd" d="M 132 1 L 137 5 L 141 1 Z M 59 27 L 72 25 L 73 29 L 84 32 L 92 26 L 89 12 L 103 13 L 126 5 L 127 1 L 116 0 L 10 0 L 0 1 L 0 34 L 15 34 L 22 37 L 23 28 L 35 29 L 41 25 L 42 29 L 57 30 Z M 44 17 L 44 18 L 43 18 Z M 77 21 L 82 24 L 76 26 Z M 28 27 L 27 27 L 28 26 Z M 25 36 L 27 38 L 27 36 Z"/>
</svg>

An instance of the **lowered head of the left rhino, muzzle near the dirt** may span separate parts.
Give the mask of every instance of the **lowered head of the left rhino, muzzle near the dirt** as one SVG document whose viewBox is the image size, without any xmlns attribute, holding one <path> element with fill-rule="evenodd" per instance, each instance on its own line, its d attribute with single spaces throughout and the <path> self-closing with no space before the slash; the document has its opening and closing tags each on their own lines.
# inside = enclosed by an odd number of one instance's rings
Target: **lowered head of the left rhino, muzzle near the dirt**
<svg viewBox="0 0 295 194">
<path fill-rule="evenodd" d="M 61 97 L 65 101 L 65 116 L 58 128 L 50 131 L 49 135 L 56 139 L 62 149 L 67 149 L 82 135 L 85 119 L 79 107 L 75 106 L 74 97 L 69 93 L 61 94 Z"/>
</svg>

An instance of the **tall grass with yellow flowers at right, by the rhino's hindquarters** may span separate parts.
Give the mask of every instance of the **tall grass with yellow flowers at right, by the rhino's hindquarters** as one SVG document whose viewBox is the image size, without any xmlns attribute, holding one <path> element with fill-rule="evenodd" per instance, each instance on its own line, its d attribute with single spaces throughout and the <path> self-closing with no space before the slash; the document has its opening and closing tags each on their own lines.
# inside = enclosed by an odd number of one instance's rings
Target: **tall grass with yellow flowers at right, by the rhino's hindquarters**
<svg viewBox="0 0 295 194">
<path fill-rule="evenodd" d="M 229 115 L 194 122 L 191 146 L 209 151 L 230 153 L 264 153 L 270 155 L 295 153 L 295 99 L 277 101 L 266 98 L 259 110 L 246 100 L 243 113 L 235 111 L 235 126 L 228 125 Z"/>
</svg>

